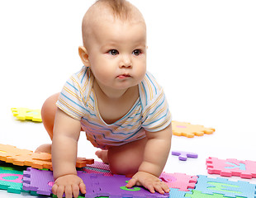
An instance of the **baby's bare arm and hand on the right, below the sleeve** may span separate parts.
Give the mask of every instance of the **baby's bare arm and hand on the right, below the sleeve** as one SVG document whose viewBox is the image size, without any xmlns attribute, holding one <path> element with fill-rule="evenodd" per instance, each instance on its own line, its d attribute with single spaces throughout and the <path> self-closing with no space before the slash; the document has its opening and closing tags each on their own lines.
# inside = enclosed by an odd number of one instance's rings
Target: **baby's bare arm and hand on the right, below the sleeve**
<svg viewBox="0 0 256 198">
<path fill-rule="evenodd" d="M 144 160 L 139 171 L 130 179 L 126 187 L 145 186 L 150 192 L 168 192 L 168 186 L 159 181 L 171 148 L 172 125 L 159 132 L 146 132 L 148 141 L 145 145 Z"/>
</svg>

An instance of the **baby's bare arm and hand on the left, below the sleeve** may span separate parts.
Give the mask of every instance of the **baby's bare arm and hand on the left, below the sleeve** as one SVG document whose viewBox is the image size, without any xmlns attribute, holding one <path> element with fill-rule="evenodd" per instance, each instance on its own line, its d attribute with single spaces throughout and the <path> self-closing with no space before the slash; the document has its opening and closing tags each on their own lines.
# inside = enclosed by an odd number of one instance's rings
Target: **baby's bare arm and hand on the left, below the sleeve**
<svg viewBox="0 0 256 198">
<path fill-rule="evenodd" d="M 78 197 L 79 190 L 84 194 L 85 185 L 77 176 L 76 159 L 81 124 L 59 108 L 55 115 L 55 128 L 52 139 L 52 163 L 55 185 L 52 191 L 58 197 Z"/>
</svg>

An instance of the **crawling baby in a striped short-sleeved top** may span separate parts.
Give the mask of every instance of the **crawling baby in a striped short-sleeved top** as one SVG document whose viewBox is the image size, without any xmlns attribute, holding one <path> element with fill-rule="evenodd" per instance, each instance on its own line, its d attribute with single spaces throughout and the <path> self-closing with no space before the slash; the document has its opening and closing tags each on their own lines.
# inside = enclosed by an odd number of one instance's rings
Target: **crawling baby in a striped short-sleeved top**
<svg viewBox="0 0 256 198">
<path fill-rule="evenodd" d="M 146 71 L 143 16 L 126 0 L 98 0 L 84 15 L 82 31 L 83 68 L 42 107 L 52 144 L 36 151 L 52 153 L 53 193 L 86 193 L 75 167 L 81 130 L 101 148 L 96 154 L 112 173 L 132 177 L 126 187 L 168 192 L 159 175 L 171 147 L 171 114 L 163 88 Z"/>
</svg>

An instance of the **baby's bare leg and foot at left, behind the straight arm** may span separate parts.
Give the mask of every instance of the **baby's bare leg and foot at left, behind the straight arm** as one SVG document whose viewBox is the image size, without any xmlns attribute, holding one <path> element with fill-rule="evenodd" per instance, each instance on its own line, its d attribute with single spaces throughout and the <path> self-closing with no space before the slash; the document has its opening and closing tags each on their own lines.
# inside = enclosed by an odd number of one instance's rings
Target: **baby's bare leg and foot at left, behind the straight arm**
<svg viewBox="0 0 256 198">
<path fill-rule="evenodd" d="M 53 138 L 53 130 L 55 124 L 55 114 L 57 111 L 56 102 L 59 99 L 59 93 L 55 93 L 46 99 L 45 103 L 41 109 L 42 121 L 45 126 L 45 130 L 48 132 L 50 139 Z M 51 144 L 42 144 L 40 147 L 36 148 L 36 152 L 51 152 Z"/>
</svg>

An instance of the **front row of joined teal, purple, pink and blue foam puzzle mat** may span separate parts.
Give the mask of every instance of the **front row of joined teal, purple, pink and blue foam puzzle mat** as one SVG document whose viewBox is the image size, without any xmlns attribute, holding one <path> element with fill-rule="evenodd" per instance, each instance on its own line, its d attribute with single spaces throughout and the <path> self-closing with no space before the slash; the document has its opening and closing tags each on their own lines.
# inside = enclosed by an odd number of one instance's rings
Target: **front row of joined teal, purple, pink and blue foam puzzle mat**
<svg viewBox="0 0 256 198">
<path fill-rule="evenodd" d="M 92 171 L 92 172 L 90 172 Z M 106 175 L 104 174 L 106 173 Z M 95 162 L 78 171 L 87 186 L 87 194 L 81 197 L 191 197 L 191 198 L 256 198 L 256 185 L 247 181 L 230 181 L 227 178 L 211 178 L 204 175 L 189 176 L 184 173 L 163 172 L 159 177 L 170 187 L 169 194 L 151 194 L 142 186 L 126 188 L 129 177 L 112 175 L 105 163 Z M 12 193 L 21 191 L 31 195 L 51 196 L 54 179 L 51 171 L 32 167 L 17 167 L 0 163 L 0 188 Z M 56 196 L 53 196 L 56 197 Z"/>
</svg>

